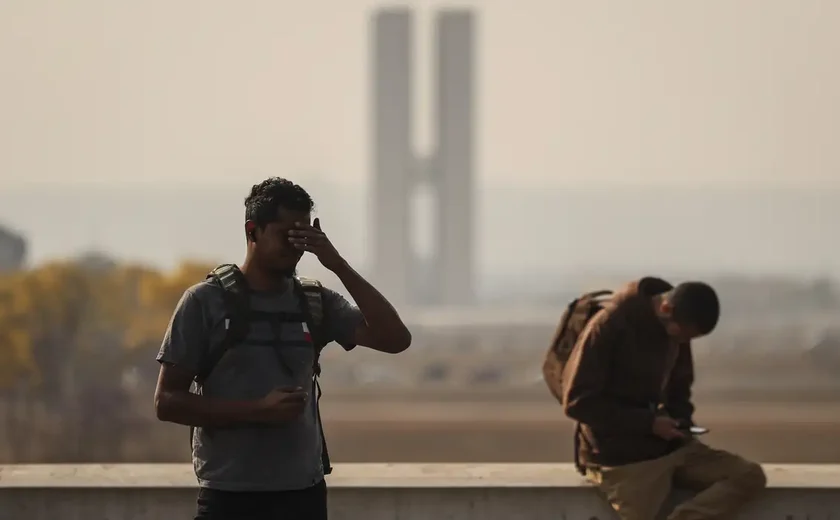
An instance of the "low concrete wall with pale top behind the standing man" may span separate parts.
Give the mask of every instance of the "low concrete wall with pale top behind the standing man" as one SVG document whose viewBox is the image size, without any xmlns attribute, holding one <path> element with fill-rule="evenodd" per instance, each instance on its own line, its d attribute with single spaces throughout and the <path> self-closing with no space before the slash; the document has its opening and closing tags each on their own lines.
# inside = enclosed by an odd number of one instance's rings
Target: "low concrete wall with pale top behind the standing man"
<svg viewBox="0 0 840 520">
<path fill-rule="evenodd" d="M 742 520 L 840 515 L 840 466 L 765 469 L 770 488 Z M 615 518 L 568 464 L 342 464 L 329 484 L 332 520 Z M 182 464 L 0 466 L 4 520 L 187 519 L 194 500 Z"/>
</svg>

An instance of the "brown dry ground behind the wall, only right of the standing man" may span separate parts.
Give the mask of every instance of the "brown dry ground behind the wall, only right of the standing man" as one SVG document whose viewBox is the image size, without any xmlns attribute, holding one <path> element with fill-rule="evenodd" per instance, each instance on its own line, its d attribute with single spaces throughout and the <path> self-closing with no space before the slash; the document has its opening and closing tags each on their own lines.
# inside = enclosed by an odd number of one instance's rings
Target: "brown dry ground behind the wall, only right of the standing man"
<svg viewBox="0 0 840 520">
<path fill-rule="evenodd" d="M 840 463 L 840 404 L 698 406 L 704 440 L 761 462 Z M 551 403 L 324 405 L 341 462 L 569 462 L 572 424 Z"/>
</svg>

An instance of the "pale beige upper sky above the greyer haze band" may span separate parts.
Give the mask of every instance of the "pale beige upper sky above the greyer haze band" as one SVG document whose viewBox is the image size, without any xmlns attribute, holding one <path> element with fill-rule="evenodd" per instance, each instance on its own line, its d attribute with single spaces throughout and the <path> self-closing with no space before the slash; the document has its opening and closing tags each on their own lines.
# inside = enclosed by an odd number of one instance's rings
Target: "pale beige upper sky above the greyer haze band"
<svg viewBox="0 0 840 520">
<path fill-rule="evenodd" d="M 426 60 L 441 3 L 409 4 Z M 0 186 L 362 182 L 376 5 L 0 0 Z M 840 186 L 837 0 L 458 5 L 481 6 L 486 181 Z"/>
</svg>

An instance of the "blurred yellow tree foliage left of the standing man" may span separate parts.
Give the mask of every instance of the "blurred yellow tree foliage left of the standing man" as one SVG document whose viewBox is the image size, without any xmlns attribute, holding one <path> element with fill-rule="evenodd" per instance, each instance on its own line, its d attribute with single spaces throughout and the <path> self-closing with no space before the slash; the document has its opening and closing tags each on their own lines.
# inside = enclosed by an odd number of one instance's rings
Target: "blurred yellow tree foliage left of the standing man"
<svg viewBox="0 0 840 520">
<path fill-rule="evenodd" d="M 157 348 L 183 292 L 210 269 L 190 262 L 161 273 L 59 262 L 0 276 L 0 389 L 52 380 L 60 393 L 73 367 L 106 353 L 113 360 L 114 351 Z"/>
</svg>

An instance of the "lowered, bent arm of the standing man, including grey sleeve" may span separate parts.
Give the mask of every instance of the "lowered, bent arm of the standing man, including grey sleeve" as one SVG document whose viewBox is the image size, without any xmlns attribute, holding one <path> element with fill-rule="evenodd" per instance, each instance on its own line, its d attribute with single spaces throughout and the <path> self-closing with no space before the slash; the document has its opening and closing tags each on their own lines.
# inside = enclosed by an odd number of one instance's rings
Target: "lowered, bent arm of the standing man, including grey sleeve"
<svg viewBox="0 0 840 520">
<path fill-rule="evenodd" d="M 193 290 L 188 290 L 175 308 L 157 356 L 158 419 L 188 426 L 224 427 L 248 422 L 257 413 L 259 401 L 227 401 L 190 392 L 208 348 L 204 309 Z"/>
</svg>

